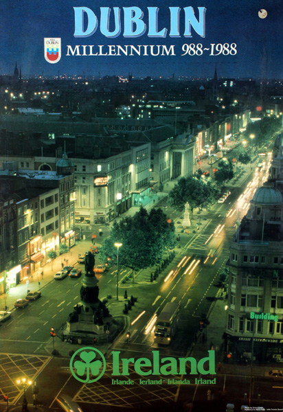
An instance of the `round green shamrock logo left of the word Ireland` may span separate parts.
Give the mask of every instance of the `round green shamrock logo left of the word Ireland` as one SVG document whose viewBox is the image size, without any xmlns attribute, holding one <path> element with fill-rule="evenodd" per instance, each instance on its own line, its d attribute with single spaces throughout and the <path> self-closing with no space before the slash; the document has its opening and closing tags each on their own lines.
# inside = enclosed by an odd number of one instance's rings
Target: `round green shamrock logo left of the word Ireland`
<svg viewBox="0 0 283 412">
<path fill-rule="evenodd" d="M 78 358 L 80 358 L 80 360 L 78 360 Z M 95 382 L 102 377 L 105 369 L 106 360 L 104 355 L 95 347 L 82 347 L 71 357 L 71 374 L 80 382 Z"/>
</svg>

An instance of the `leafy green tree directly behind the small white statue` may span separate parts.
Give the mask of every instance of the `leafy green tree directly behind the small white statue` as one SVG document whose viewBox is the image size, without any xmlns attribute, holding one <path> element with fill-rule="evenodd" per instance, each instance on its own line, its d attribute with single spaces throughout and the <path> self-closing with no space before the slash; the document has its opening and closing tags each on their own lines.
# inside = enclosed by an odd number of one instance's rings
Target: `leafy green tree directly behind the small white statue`
<svg viewBox="0 0 283 412">
<path fill-rule="evenodd" d="M 168 195 L 168 204 L 183 211 L 185 203 L 190 203 L 193 213 L 196 207 L 210 205 L 219 195 L 219 190 L 211 180 L 205 181 L 195 176 L 182 177 Z"/>
</svg>

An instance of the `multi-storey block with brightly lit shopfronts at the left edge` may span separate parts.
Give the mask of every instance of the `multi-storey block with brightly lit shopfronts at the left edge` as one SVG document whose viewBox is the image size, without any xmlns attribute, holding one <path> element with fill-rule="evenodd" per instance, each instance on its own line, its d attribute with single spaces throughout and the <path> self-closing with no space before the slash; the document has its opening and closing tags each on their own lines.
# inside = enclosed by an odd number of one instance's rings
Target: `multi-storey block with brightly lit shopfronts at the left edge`
<svg viewBox="0 0 283 412">
<path fill-rule="evenodd" d="M 56 172 L 19 170 L 4 162 L 0 173 L 0 292 L 16 286 L 47 261 L 60 244 L 75 244 L 73 163 L 64 156 Z"/>
</svg>

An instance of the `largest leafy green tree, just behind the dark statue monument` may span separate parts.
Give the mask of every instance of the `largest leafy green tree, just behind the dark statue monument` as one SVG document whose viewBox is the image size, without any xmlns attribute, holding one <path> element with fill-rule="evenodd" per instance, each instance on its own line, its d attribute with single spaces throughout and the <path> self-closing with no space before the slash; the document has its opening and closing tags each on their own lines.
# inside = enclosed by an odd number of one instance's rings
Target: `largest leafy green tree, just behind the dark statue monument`
<svg viewBox="0 0 283 412">
<path fill-rule="evenodd" d="M 119 262 L 135 271 L 148 268 L 160 262 L 164 251 L 175 245 L 174 223 L 161 209 L 152 209 L 150 214 L 141 207 L 134 216 L 126 216 L 114 222 L 109 238 L 100 249 L 100 260 L 117 260 L 115 242 L 121 242 Z"/>
</svg>

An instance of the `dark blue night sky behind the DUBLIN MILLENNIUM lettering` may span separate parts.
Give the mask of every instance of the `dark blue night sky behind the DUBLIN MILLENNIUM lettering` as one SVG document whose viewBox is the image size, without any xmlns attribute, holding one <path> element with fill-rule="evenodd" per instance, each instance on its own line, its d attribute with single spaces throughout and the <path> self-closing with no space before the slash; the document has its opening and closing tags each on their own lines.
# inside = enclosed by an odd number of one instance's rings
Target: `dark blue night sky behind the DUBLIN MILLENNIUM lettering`
<svg viewBox="0 0 283 412">
<path fill-rule="evenodd" d="M 98 30 L 87 38 L 75 38 L 73 7 L 85 6 L 100 16 L 100 7 L 137 6 L 144 11 L 147 23 L 147 7 L 159 7 L 159 30 L 168 28 L 169 6 L 181 9 L 192 6 L 199 18 L 197 7 L 205 7 L 205 38 L 192 30 L 192 38 L 183 37 L 183 13 L 180 14 L 180 38 L 106 38 Z M 258 10 L 267 10 L 267 17 L 260 19 Z M 281 0 L 1 0 L 0 21 L 0 74 L 12 74 L 14 63 L 21 67 L 23 76 L 44 74 L 62 75 L 124 75 L 133 76 L 192 76 L 212 77 L 215 63 L 218 76 L 240 78 L 283 78 L 283 3 Z M 183 11 L 183 10 L 182 10 Z M 123 12 L 121 12 L 123 17 Z M 111 14 L 113 21 L 113 13 Z M 110 26 L 113 30 L 113 26 Z M 44 58 L 43 38 L 60 37 L 62 57 L 54 65 Z M 184 43 L 236 43 L 235 56 L 181 56 Z M 67 45 L 175 45 L 177 56 L 75 56 L 67 57 Z"/>
</svg>

